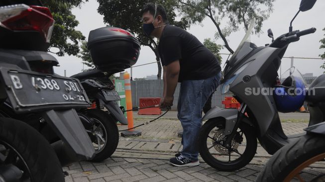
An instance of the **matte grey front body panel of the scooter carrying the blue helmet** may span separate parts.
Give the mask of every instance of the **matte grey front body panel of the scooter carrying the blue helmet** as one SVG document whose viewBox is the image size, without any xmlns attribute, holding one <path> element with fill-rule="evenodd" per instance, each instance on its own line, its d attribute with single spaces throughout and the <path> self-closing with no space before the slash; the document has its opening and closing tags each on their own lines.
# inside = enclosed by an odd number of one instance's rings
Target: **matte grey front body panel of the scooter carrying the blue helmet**
<svg viewBox="0 0 325 182">
<path fill-rule="evenodd" d="M 260 135 L 266 134 L 270 125 L 280 122 L 279 114 L 272 95 L 278 68 L 281 64 L 279 54 L 282 49 L 266 47 L 250 57 L 250 64 L 233 81 L 229 90 L 252 111 Z M 262 91 L 269 92 L 262 94 Z M 255 91 L 255 92 L 254 92 Z M 256 93 L 256 91 L 259 93 Z"/>
</svg>

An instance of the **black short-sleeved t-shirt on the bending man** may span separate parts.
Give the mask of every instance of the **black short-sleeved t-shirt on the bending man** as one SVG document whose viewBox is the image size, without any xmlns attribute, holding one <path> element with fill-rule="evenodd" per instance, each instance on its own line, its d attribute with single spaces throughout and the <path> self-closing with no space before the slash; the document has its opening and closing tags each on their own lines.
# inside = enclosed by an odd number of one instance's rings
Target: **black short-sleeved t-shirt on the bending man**
<svg viewBox="0 0 325 182">
<path fill-rule="evenodd" d="M 164 28 L 158 52 L 163 66 L 180 61 L 179 82 L 207 79 L 221 71 L 216 56 L 194 35 L 176 26 Z"/>
</svg>

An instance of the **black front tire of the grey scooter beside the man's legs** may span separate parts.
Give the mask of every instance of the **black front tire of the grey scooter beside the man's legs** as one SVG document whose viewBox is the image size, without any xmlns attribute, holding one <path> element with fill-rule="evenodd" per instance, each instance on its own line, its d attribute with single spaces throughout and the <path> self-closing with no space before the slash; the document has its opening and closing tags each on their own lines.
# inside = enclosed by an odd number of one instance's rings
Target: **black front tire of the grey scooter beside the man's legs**
<svg viewBox="0 0 325 182">
<path fill-rule="evenodd" d="M 217 130 L 214 130 L 214 128 L 218 128 Z M 225 127 L 225 121 L 223 118 L 213 118 L 208 120 L 202 127 L 201 133 L 200 133 L 200 155 L 202 157 L 202 159 L 209 164 L 211 167 L 219 170 L 219 171 L 234 171 L 240 168 L 243 168 L 244 166 L 246 166 L 255 156 L 256 153 L 256 149 L 257 149 L 257 139 L 255 136 L 255 130 L 252 126 L 249 126 L 246 123 L 241 123 L 238 127 L 238 129 L 240 129 L 240 132 L 242 131 L 243 134 L 241 134 L 241 136 L 245 135 L 246 137 L 246 147 L 243 151 L 243 153 L 241 153 L 241 156 L 238 155 L 238 158 L 235 159 L 234 161 L 222 161 L 222 156 L 221 155 L 217 155 L 217 159 L 213 156 L 213 154 L 210 153 L 209 147 L 208 147 L 208 136 L 210 134 L 210 132 L 216 131 L 217 132 L 221 132 L 224 137 L 224 127 Z M 222 131 L 223 129 L 223 131 Z M 240 141 L 240 137 L 238 135 L 239 132 L 237 131 L 237 134 L 235 135 L 232 144 L 234 145 L 233 148 L 235 148 L 235 145 L 237 145 L 236 143 L 241 144 L 242 142 L 242 137 L 241 137 L 241 141 Z M 215 140 L 215 136 L 214 135 L 214 140 Z M 237 137 L 238 136 L 238 137 Z M 216 139 L 217 140 L 217 139 Z M 215 140 L 215 141 L 216 141 Z M 236 142 L 235 142 L 236 141 Z M 215 145 L 215 144 L 214 144 Z M 218 150 L 224 150 L 225 153 L 227 153 L 228 156 L 228 150 L 224 147 L 222 147 L 221 145 L 216 145 L 216 147 L 218 147 Z M 216 149 L 215 147 L 215 149 Z M 237 146 L 238 147 L 238 146 Z M 241 146 L 242 149 L 243 147 Z M 217 149 L 216 149 L 217 151 Z M 218 152 L 218 151 L 217 151 Z M 222 151 L 221 151 L 222 152 Z M 238 151 L 237 151 L 238 152 Z M 213 152 L 212 152 L 213 153 Z M 238 152 L 240 153 L 240 152 Z M 221 154 L 221 153 L 220 153 Z M 224 157 L 225 158 L 225 157 Z M 227 160 L 227 159 L 225 159 Z"/>
</svg>

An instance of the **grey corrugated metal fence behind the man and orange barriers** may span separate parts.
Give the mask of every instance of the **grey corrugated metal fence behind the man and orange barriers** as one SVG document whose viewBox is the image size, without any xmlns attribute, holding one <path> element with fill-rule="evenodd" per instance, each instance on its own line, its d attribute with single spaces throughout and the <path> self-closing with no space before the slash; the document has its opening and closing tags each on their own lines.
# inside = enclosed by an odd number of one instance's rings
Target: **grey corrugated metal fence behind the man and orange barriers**
<svg viewBox="0 0 325 182">
<path fill-rule="evenodd" d="M 305 77 L 307 85 L 310 85 L 316 77 Z M 132 105 L 133 107 L 139 106 L 139 98 L 143 97 L 162 97 L 163 94 L 163 80 L 137 80 L 131 81 L 131 91 L 132 91 Z M 177 84 L 174 102 L 172 110 L 177 110 L 177 100 L 180 92 L 180 83 Z M 221 87 L 217 88 L 217 91 L 212 97 L 212 106 L 218 106 L 224 108 L 222 100 L 225 96 L 232 96 L 231 94 L 224 95 L 221 94 Z"/>
</svg>

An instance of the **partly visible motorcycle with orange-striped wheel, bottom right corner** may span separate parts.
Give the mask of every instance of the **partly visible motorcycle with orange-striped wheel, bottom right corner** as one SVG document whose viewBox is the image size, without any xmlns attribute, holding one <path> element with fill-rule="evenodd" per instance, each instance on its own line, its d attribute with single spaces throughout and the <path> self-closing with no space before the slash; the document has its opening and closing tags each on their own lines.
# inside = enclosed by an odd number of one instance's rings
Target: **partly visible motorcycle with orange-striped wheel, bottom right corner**
<svg viewBox="0 0 325 182">
<path fill-rule="evenodd" d="M 325 75 L 322 78 L 324 87 Z M 325 97 L 322 98 L 324 104 Z M 323 110 L 323 120 L 324 116 Z M 307 135 L 282 147 L 271 157 L 256 182 L 325 181 L 324 173 L 308 179 L 301 174 L 310 165 L 325 159 L 325 122 L 305 128 L 305 131 Z"/>
</svg>

